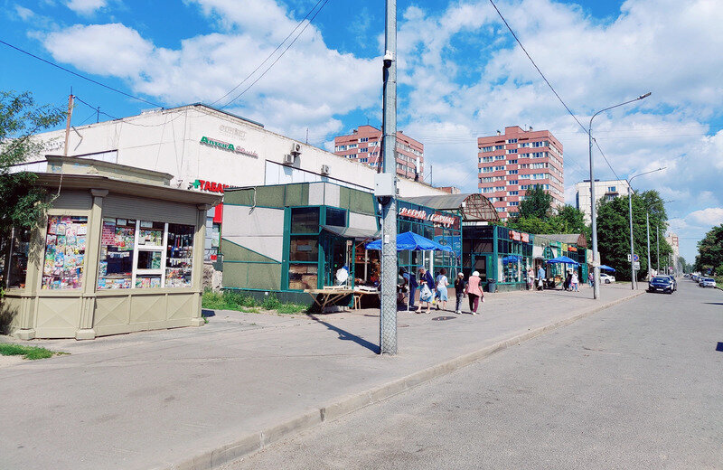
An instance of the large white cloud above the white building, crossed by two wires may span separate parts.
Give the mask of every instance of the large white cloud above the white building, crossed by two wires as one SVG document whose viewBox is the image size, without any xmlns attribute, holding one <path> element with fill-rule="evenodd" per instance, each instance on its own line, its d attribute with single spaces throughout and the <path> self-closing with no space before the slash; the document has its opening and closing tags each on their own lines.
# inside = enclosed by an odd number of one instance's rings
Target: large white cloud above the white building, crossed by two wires
<svg viewBox="0 0 723 470">
<path fill-rule="evenodd" d="M 199 0 L 198 5 L 223 33 L 183 39 L 170 49 L 124 24 L 75 25 L 49 34 L 44 45 L 58 61 L 128 80 L 136 93 L 168 104 L 211 103 L 254 71 L 297 22 L 273 0 L 245 2 L 243 8 L 229 0 Z M 216 106 L 251 85 L 278 53 Z M 229 109 L 274 130 L 303 135 L 310 127 L 313 135 L 325 136 L 342 127 L 337 116 L 378 103 L 375 62 L 330 49 L 311 25 Z"/>
</svg>

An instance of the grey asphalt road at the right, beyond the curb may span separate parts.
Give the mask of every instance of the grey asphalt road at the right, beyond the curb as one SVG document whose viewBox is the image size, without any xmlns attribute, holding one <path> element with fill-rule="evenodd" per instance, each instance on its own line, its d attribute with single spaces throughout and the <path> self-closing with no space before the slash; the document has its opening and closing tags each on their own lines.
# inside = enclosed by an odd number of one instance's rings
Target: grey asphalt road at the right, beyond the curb
<svg viewBox="0 0 723 470">
<path fill-rule="evenodd" d="M 682 279 L 224 469 L 723 468 L 718 342 Z"/>
</svg>

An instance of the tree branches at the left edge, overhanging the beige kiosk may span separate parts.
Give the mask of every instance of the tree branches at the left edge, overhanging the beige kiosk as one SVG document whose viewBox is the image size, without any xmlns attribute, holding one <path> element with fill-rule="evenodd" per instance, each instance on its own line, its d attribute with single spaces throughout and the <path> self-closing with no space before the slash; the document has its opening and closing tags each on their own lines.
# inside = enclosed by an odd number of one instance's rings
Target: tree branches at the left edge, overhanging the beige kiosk
<svg viewBox="0 0 723 470">
<path fill-rule="evenodd" d="M 36 175 L 11 169 L 38 155 L 42 144 L 33 135 L 57 126 L 64 117 L 59 108 L 38 106 L 28 92 L 0 91 L 0 240 L 6 240 L 13 227 L 32 228 L 47 209 L 45 192 L 33 186 Z"/>
</svg>

